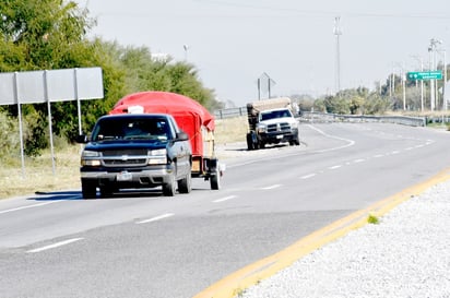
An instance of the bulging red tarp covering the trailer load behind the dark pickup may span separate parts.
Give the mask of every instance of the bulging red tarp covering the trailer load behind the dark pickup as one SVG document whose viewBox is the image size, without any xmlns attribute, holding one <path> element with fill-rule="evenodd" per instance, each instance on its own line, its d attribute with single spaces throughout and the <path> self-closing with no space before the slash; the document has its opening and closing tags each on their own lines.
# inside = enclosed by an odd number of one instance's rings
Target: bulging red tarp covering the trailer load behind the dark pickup
<svg viewBox="0 0 450 298">
<path fill-rule="evenodd" d="M 188 133 L 192 155 L 203 155 L 201 127 L 214 130 L 214 117 L 198 102 L 170 92 L 139 92 L 125 96 L 114 106 L 109 114 L 126 114 L 128 107 L 141 106 L 144 112 L 169 114 L 180 129 Z"/>
</svg>

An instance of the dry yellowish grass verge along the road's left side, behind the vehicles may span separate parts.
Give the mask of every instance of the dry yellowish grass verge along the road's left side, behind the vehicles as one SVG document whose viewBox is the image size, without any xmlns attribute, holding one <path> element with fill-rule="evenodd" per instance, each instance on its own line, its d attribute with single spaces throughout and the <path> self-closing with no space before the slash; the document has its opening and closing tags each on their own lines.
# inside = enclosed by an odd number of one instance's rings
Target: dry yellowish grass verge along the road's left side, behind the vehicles
<svg viewBox="0 0 450 298">
<path fill-rule="evenodd" d="M 247 118 L 232 118 L 216 121 L 215 143 L 245 142 Z M 50 152 L 37 158 L 26 158 L 22 171 L 21 158 L 11 158 L 0 168 L 0 199 L 27 195 L 67 189 L 81 189 L 80 145 L 55 150 L 55 174 Z"/>
</svg>

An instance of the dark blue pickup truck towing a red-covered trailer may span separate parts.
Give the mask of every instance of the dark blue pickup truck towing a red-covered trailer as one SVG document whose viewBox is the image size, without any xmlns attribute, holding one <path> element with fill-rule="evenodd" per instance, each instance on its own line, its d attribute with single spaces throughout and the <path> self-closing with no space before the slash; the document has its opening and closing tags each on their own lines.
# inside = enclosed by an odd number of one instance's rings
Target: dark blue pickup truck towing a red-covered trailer
<svg viewBox="0 0 450 298">
<path fill-rule="evenodd" d="M 191 191 L 192 151 L 189 136 L 170 115 L 125 114 L 99 118 L 81 154 L 84 199 L 97 189 L 109 196 L 121 189 L 162 187 L 163 194 Z"/>
</svg>

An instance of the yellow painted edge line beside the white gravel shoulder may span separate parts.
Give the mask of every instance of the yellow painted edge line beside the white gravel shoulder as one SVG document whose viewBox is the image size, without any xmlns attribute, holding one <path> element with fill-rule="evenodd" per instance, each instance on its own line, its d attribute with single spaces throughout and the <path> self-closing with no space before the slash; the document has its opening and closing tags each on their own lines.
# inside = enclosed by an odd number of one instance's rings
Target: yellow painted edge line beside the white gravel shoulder
<svg viewBox="0 0 450 298">
<path fill-rule="evenodd" d="M 425 182 L 410 187 L 399 193 L 388 196 L 367 208 L 356 211 L 336 222 L 301 238 L 282 251 L 247 265 L 224 277 L 192 298 L 233 298 L 246 288 L 258 284 L 279 271 L 288 267 L 306 254 L 345 236 L 353 229 L 367 224 L 368 215 L 382 216 L 404 201 L 423 193 L 430 187 L 450 179 L 450 168 L 447 168 Z"/>
</svg>

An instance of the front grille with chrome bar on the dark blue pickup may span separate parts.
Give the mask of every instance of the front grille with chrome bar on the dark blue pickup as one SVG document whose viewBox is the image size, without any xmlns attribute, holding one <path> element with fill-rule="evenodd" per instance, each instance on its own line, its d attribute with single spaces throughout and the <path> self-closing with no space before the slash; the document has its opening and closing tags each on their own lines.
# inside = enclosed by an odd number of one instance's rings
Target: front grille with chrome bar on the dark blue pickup
<svg viewBox="0 0 450 298">
<path fill-rule="evenodd" d="M 144 166 L 146 150 L 117 150 L 103 152 L 103 162 L 106 167 Z"/>
</svg>

